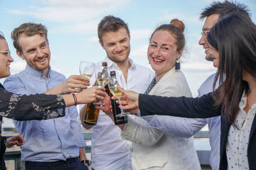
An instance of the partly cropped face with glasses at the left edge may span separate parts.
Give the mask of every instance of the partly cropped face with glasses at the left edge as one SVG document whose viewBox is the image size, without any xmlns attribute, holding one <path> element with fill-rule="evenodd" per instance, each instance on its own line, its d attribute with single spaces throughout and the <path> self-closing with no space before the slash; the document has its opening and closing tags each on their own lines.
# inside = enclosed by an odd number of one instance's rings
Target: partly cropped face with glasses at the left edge
<svg viewBox="0 0 256 170">
<path fill-rule="evenodd" d="M 5 39 L 0 39 L 0 78 L 10 76 L 10 63 L 13 62 L 8 55 L 9 47 Z"/>
</svg>

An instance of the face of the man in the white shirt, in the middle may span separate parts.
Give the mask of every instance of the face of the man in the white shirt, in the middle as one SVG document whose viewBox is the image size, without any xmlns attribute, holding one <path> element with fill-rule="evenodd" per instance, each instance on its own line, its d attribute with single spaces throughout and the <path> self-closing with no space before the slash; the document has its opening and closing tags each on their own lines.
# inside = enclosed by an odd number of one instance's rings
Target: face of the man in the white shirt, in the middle
<svg viewBox="0 0 256 170">
<path fill-rule="evenodd" d="M 102 43 L 99 43 L 113 62 L 125 62 L 128 59 L 131 50 L 130 36 L 124 27 L 115 32 L 104 33 Z"/>
</svg>

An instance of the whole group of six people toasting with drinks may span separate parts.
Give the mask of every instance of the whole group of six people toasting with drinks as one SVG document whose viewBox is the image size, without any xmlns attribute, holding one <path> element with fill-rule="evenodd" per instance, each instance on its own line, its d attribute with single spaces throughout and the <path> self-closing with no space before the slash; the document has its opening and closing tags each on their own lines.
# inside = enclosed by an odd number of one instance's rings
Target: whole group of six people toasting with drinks
<svg viewBox="0 0 256 170">
<path fill-rule="evenodd" d="M 186 44 L 182 21 L 160 25 L 150 36 L 147 57 L 153 72 L 129 58 L 131 36 L 124 20 L 102 18 L 98 37 L 107 56 L 97 64 L 108 62 L 125 81 L 122 104 L 133 115 L 122 125 L 113 123 L 104 87 L 88 88 L 88 78 L 66 80 L 51 69 L 44 25 L 25 23 L 12 31 L 17 55 L 27 63 L 12 76 L 13 59 L 0 35 L 0 78 L 7 77 L 0 87 L 0 114 L 13 118 L 19 132 L 1 136 L 1 169 L 5 147 L 13 145 L 22 145 L 26 169 L 88 169 L 81 124 L 93 128 L 95 170 L 200 169 L 193 135 L 206 124 L 212 169 L 256 169 L 256 26 L 247 6 L 232 1 L 211 3 L 200 18 L 205 22 L 199 45 L 218 70 L 198 89 L 197 98 L 180 71 Z M 97 125 L 86 125 L 86 104 L 97 100 L 108 105 L 98 107 Z M 84 104 L 79 115 L 76 104 Z"/>
</svg>

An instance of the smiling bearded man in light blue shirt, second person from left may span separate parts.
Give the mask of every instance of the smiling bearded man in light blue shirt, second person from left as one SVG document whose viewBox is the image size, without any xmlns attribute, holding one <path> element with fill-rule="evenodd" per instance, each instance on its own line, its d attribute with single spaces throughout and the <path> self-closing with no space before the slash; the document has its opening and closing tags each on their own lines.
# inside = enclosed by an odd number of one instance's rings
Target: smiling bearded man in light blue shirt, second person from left
<svg viewBox="0 0 256 170">
<path fill-rule="evenodd" d="M 12 32 L 17 55 L 26 60 L 26 69 L 6 78 L 4 87 L 17 94 L 68 94 L 86 89 L 88 79 L 51 69 L 51 52 L 44 25 L 25 23 Z M 40 109 L 40 108 L 38 108 Z M 52 120 L 13 121 L 25 139 L 21 159 L 26 169 L 88 169 L 81 125 L 76 106 L 66 108 L 65 117 Z M 79 159 L 78 159 L 79 157 Z"/>
</svg>

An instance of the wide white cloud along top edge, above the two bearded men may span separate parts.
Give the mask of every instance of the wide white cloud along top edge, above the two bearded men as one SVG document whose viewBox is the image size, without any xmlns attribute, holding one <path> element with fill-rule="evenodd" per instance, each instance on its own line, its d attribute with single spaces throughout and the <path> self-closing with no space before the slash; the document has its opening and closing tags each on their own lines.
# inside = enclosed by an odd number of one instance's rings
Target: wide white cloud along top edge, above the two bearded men
<svg viewBox="0 0 256 170">
<path fill-rule="evenodd" d="M 88 22 L 103 13 L 122 10 L 127 4 L 129 1 L 125 0 L 34 0 L 27 9 L 9 12 L 50 22 L 72 24 Z"/>
</svg>

